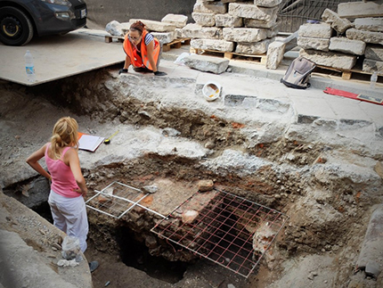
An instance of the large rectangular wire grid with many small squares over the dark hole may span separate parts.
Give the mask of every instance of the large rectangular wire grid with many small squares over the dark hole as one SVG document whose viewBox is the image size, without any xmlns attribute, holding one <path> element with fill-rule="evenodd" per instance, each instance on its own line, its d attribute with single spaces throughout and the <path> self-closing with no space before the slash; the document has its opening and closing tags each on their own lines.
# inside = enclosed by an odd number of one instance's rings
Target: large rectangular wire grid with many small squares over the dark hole
<svg viewBox="0 0 383 288">
<path fill-rule="evenodd" d="M 216 195 L 192 223 L 183 223 L 179 213 L 200 192 L 183 202 L 151 232 L 248 278 L 289 217 L 232 193 L 215 191 Z M 265 226 L 273 233 L 261 236 L 267 239 L 261 243 L 262 251 L 255 251 L 257 229 Z"/>
</svg>

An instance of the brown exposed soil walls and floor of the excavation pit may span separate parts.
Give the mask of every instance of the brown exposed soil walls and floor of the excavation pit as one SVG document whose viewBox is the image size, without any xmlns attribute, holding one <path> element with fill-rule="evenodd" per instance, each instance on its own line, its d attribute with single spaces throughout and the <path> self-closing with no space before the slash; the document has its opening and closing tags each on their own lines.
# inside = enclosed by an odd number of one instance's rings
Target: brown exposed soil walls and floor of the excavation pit
<svg viewBox="0 0 383 288">
<path fill-rule="evenodd" d="M 109 287 L 282 287 L 283 281 L 291 286 L 297 279 L 297 287 L 347 287 L 371 210 L 381 202 L 382 180 L 370 172 L 361 179 L 354 172 L 345 172 L 342 165 L 346 161 L 354 165 L 361 159 L 376 163 L 382 160 L 381 154 L 349 151 L 340 144 L 306 143 L 300 137 L 283 135 L 251 146 L 240 131 L 243 123 L 202 110 L 175 106 L 159 110 L 157 102 L 143 102 L 110 88 L 108 81 L 118 81 L 114 69 L 111 71 L 99 70 L 33 88 L 0 83 L 0 119 L 6 123 L 0 136 L 1 168 L 14 170 L 15 163 L 49 138 L 52 123 L 69 113 L 77 115 L 84 127 L 91 122 L 110 122 L 137 129 L 174 128 L 183 138 L 214 151 L 203 160 L 148 152 L 133 160 L 85 168 L 89 190 L 102 189 L 111 180 L 138 187 L 169 181 L 170 192 L 192 193 L 198 180 L 212 179 L 225 191 L 280 210 L 290 218 L 255 273 L 245 279 L 190 251 L 178 251 L 164 240 L 155 238 L 151 246 L 150 229 L 156 218 L 148 213 L 135 211 L 116 220 L 89 210 L 86 258 L 101 262 L 93 274 L 94 287 L 104 287 L 109 281 Z M 113 129 L 110 125 L 111 133 Z M 204 166 L 205 160 L 218 159 L 228 149 L 270 165 L 253 174 L 243 174 L 241 169 L 222 174 Z M 16 177 L 14 183 L 6 183 L 4 193 L 37 209 L 29 202 L 31 196 L 34 201 L 37 194 L 46 198 L 49 186 L 39 177 L 20 177 L 22 181 Z M 39 213 L 44 215 L 44 210 Z M 378 282 L 369 282 L 371 287 L 379 283 L 381 277 Z"/>
</svg>

